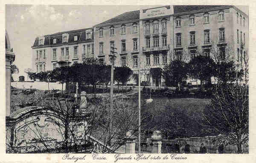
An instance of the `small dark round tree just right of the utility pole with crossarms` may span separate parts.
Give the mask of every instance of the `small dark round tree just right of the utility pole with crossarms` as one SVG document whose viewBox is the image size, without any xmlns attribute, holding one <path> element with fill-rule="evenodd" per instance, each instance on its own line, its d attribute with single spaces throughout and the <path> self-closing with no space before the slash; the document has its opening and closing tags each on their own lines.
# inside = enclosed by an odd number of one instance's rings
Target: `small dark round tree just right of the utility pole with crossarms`
<svg viewBox="0 0 256 163">
<path fill-rule="evenodd" d="M 122 83 L 122 90 L 124 89 L 124 84 L 129 81 L 130 76 L 133 74 L 131 68 L 123 66 L 123 67 L 115 67 L 114 69 L 114 80 L 117 82 L 117 90 L 119 91 L 119 83 Z"/>
</svg>

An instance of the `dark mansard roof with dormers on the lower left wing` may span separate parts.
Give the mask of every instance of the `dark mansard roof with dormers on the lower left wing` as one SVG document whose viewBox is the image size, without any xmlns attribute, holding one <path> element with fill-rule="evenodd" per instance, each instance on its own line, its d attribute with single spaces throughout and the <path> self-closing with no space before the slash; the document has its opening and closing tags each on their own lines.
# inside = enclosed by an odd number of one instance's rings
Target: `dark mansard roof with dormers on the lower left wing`
<svg viewBox="0 0 256 163">
<path fill-rule="evenodd" d="M 93 28 L 87 28 L 87 29 L 92 29 L 92 31 L 93 31 Z M 44 35 L 44 37 L 45 37 L 44 45 L 42 45 L 42 46 L 47 46 L 47 45 L 49 46 L 50 44 L 52 45 L 54 38 L 57 39 L 57 43 L 55 45 L 62 44 L 62 34 L 64 34 L 64 33 L 69 34 L 68 43 L 76 42 L 76 41 L 74 41 L 74 36 L 76 36 L 76 35 L 78 36 L 78 41 L 91 42 L 91 41 L 93 41 L 93 32 L 92 32 L 92 39 L 86 40 L 85 31 L 87 29 L 78 29 L 78 30 L 73 30 L 73 31 L 62 31 L 62 32 L 58 32 L 55 34 Z M 80 36 L 82 36 L 82 37 L 80 38 Z M 49 37 L 50 37 L 50 43 L 49 43 Z M 38 37 L 35 38 L 35 42 L 32 47 L 37 47 L 38 41 L 39 41 Z"/>
</svg>

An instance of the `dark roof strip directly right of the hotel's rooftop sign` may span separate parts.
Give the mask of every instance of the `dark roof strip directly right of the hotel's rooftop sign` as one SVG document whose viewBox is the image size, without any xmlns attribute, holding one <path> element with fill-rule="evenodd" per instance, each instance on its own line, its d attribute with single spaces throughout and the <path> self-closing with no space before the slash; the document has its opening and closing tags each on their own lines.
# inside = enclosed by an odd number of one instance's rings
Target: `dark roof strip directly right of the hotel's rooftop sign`
<svg viewBox="0 0 256 163">
<path fill-rule="evenodd" d="M 175 5 L 173 6 L 174 14 L 182 13 L 182 12 L 189 12 L 189 11 L 196 11 L 196 10 L 203 10 L 215 7 L 224 7 L 224 5 Z"/>
</svg>

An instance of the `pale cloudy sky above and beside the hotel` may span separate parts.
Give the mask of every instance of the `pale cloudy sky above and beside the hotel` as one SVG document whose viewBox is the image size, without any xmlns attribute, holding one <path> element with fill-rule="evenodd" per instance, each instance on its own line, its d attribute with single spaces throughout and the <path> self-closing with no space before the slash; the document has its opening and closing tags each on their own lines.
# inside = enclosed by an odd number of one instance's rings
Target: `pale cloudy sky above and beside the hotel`
<svg viewBox="0 0 256 163">
<path fill-rule="evenodd" d="M 161 5 L 163 6 L 163 5 Z M 93 27 L 126 11 L 158 6 L 6 5 L 6 30 L 20 69 L 14 80 L 32 68 L 32 48 L 38 36 Z M 246 6 L 237 6 L 248 14 Z"/>
</svg>

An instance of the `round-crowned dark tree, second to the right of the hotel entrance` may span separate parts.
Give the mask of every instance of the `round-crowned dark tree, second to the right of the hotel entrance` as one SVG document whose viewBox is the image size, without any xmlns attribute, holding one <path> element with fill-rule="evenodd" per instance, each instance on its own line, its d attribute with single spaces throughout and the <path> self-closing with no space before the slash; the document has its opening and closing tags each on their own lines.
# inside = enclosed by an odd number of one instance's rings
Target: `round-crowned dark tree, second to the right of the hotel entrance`
<svg viewBox="0 0 256 163">
<path fill-rule="evenodd" d="M 188 63 L 189 76 L 199 79 L 201 91 L 204 91 L 204 82 L 215 74 L 215 63 L 210 57 L 198 55 Z"/>
</svg>

